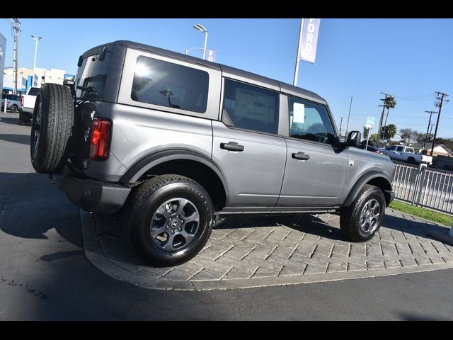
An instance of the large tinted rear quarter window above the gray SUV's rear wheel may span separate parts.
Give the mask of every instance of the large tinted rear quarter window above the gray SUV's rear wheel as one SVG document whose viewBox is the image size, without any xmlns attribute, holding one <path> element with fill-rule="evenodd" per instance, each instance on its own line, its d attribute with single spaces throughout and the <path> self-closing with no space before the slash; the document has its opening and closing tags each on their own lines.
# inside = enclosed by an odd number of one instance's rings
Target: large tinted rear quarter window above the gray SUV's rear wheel
<svg viewBox="0 0 453 340">
<path fill-rule="evenodd" d="M 205 113 L 208 86 L 205 71 L 139 56 L 130 96 L 141 103 Z"/>
</svg>

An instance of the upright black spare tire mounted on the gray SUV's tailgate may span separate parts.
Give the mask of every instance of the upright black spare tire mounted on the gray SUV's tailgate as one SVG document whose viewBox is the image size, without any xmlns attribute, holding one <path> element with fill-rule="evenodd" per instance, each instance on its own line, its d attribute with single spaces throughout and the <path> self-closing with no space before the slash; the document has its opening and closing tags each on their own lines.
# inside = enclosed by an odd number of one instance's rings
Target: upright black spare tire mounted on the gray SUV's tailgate
<svg viewBox="0 0 453 340">
<path fill-rule="evenodd" d="M 30 157 L 35 171 L 62 169 L 69 153 L 74 125 L 74 100 L 68 86 L 45 84 L 36 97 L 31 125 Z"/>
</svg>

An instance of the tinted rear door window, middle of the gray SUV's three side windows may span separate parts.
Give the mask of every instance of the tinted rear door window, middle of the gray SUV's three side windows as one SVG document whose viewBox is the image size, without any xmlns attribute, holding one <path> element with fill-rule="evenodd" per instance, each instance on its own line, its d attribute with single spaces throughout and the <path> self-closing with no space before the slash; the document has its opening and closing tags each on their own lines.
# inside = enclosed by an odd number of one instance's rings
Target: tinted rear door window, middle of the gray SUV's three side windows
<svg viewBox="0 0 453 340">
<path fill-rule="evenodd" d="M 277 134 L 278 94 L 225 79 L 222 121 L 229 126 Z"/>
</svg>

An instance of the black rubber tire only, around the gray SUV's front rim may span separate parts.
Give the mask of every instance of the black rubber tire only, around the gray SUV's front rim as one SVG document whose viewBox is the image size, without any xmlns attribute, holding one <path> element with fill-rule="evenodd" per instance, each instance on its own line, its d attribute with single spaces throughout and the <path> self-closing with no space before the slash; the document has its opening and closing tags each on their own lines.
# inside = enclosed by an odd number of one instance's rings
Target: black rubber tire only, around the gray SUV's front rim
<svg viewBox="0 0 453 340">
<path fill-rule="evenodd" d="M 364 237 L 360 234 L 360 214 L 362 209 L 365 207 L 365 203 L 369 200 L 375 199 L 379 202 L 381 211 L 379 220 L 377 221 L 377 228 L 374 229 L 372 234 L 367 235 Z M 360 193 L 355 198 L 354 202 L 348 207 L 345 207 L 341 210 L 340 214 L 340 229 L 343 234 L 345 234 L 348 239 L 352 242 L 366 242 L 369 239 L 372 239 L 374 234 L 379 230 L 382 224 L 382 220 L 384 219 L 384 212 L 385 212 L 385 198 L 384 193 L 382 190 L 377 186 L 372 185 L 365 185 Z"/>
</svg>

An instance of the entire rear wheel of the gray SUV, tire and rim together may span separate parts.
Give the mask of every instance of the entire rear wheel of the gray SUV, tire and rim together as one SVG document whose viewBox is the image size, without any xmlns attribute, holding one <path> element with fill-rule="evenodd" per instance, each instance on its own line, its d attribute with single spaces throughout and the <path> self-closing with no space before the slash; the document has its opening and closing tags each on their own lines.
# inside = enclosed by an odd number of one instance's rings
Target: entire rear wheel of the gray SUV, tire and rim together
<svg viewBox="0 0 453 340">
<path fill-rule="evenodd" d="M 134 189 L 125 207 L 130 242 L 151 266 L 175 266 L 201 251 L 210 237 L 213 208 L 197 182 L 156 176 Z"/>
</svg>

